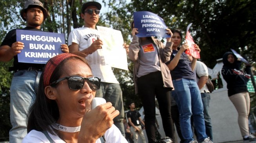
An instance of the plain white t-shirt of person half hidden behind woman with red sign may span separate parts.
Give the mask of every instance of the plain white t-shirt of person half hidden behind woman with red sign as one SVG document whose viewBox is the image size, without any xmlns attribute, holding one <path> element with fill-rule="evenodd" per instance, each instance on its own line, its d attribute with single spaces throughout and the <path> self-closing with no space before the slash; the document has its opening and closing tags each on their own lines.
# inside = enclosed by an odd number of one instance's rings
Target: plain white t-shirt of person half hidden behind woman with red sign
<svg viewBox="0 0 256 143">
<path fill-rule="evenodd" d="M 196 72 L 196 75 L 197 75 L 196 76 L 196 81 L 197 82 L 199 80 L 198 77 L 202 77 L 202 76 L 207 76 L 208 77 L 209 76 L 207 66 L 204 63 L 200 62 L 200 61 L 196 61 L 195 72 Z M 209 89 L 207 88 L 206 84 L 203 86 L 203 88 L 200 89 L 201 93 L 204 93 L 204 91 L 207 92 L 207 93 L 210 92 Z"/>
</svg>

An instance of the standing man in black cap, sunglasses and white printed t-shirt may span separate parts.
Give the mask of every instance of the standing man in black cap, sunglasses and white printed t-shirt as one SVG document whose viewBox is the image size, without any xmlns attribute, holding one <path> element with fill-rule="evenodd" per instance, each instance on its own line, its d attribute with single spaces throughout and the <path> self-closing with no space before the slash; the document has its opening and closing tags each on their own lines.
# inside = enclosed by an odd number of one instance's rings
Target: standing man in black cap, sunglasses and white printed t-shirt
<svg viewBox="0 0 256 143">
<path fill-rule="evenodd" d="M 101 4 L 98 2 L 86 2 L 83 4 L 81 17 L 84 19 L 84 27 L 73 29 L 69 34 L 69 51 L 80 51 L 87 55 L 85 58 L 91 65 L 93 75 L 101 79 L 100 89 L 96 92 L 95 97 L 105 98 L 107 102 L 111 102 L 120 112 L 114 118 L 114 124 L 122 132 L 123 136 L 125 136 L 122 90 L 111 66 L 105 64 L 102 52 L 104 43 L 100 39 L 100 34 L 96 29 L 100 9 Z"/>
</svg>

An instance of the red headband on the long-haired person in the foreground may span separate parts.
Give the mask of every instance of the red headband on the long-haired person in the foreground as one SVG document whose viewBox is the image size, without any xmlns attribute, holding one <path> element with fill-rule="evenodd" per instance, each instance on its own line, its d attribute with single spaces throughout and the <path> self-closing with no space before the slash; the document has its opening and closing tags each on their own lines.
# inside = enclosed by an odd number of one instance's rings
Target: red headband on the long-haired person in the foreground
<svg viewBox="0 0 256 143">
<path fill-rule="evenodd" d="M 65 59 L 69 57 L 79 57 L 78 55 L 70 54 L 70 53 L 62 53 L 59 55 L 56 55 L 52 57 L 45 65 L 44 73 L 43 73 L 43 80 L 44 80 L 44 88 L 46 86 L 49 86 L 49 82 L 51 79 L 51 76 L 53 74 L 53 71 L 56 69 L 56 67 Z"/>
</svg>

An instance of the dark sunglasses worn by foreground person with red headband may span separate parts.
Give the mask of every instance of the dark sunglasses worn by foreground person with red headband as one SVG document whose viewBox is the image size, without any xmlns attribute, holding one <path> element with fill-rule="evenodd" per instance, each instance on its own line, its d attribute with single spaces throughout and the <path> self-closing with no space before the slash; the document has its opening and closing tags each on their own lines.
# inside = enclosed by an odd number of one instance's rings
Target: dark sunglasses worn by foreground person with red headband
<svg viewBox="0 0 256 143">
<path fill-rule="evenodd" d="M 84 82 L 87 82 L 87 84 L 89 85 L 89 87 L 92 90 L 98 90 L 100 89 L 100 78 L 98 77 L 80 77 L 78 75 L 72 75 L 70 77 L 63 77 L 61 79 L 58 79 L 54 82 L 52 82 L 50 85 L 55 85 L 58 82 L 67 79 L 67 83 L 69 85 L 69 89 L 72 90 L 79 90 L 84 86 Z"/>
</svg>

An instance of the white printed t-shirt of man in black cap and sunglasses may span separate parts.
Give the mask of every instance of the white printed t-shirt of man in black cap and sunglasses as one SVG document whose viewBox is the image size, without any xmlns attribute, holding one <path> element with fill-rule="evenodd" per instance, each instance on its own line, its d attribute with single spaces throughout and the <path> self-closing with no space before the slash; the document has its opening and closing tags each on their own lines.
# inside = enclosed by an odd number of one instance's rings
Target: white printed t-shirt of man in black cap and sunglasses
<svg viewBox="0 0 256 143">
<path fill-rule="evenodd" d="M 100 38 L 100 34 L 96 29 L 90 29 L 88 27 L 81 27 L 73 29 L 68 38 L 68 45 L 72 43 L 77 43 L 79 45 L 79 50 L 84 50 L 91 46 L 91 44 L 97 39 Z M 104 48 L 104 43 L 102 45 Z M 98 49 L 93 54 L 87 55 L 85 57 L 89 62 L 93 75 L 99 77 L 102 82 L 116 83 L 119 82 L 116 80 L 116 77 L 112 71 L 111 66 L 105 64 L 104 55 L 102 49 Z"/>
</svg>

